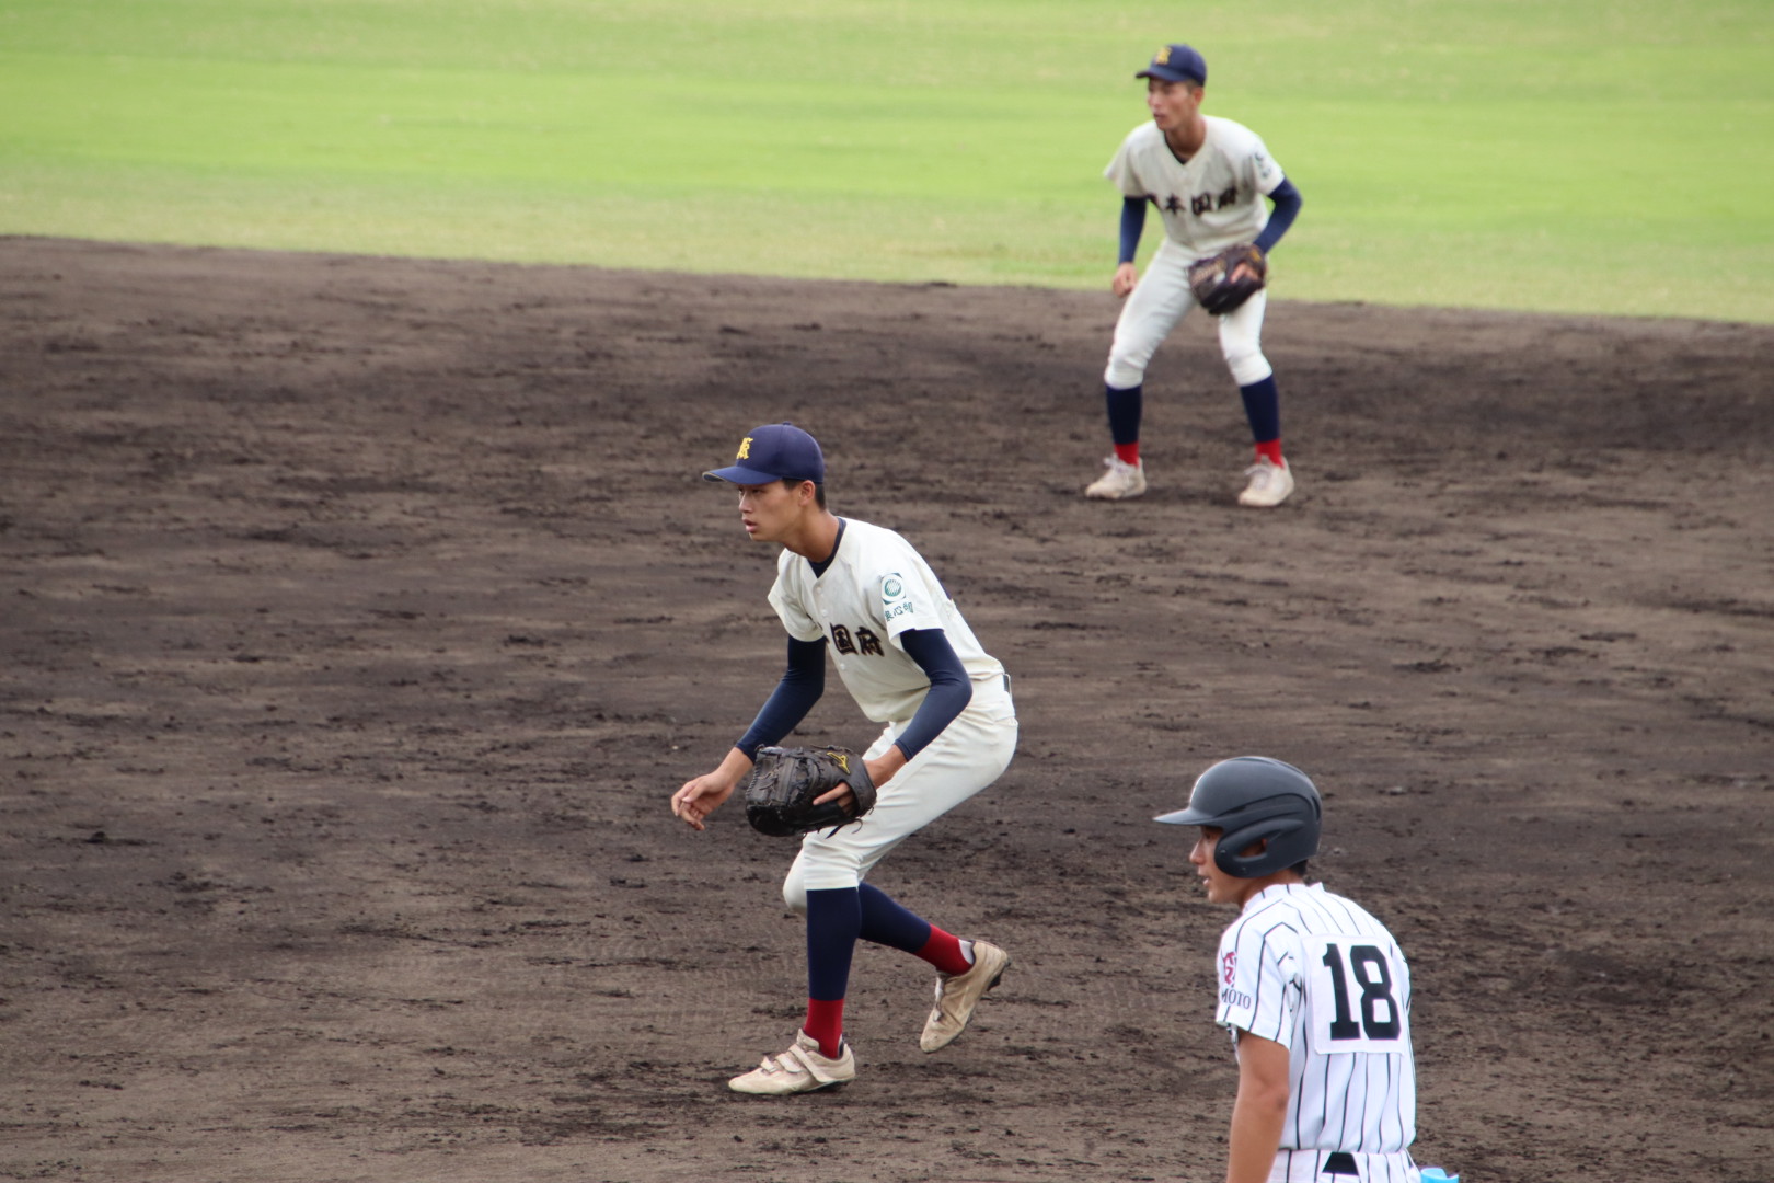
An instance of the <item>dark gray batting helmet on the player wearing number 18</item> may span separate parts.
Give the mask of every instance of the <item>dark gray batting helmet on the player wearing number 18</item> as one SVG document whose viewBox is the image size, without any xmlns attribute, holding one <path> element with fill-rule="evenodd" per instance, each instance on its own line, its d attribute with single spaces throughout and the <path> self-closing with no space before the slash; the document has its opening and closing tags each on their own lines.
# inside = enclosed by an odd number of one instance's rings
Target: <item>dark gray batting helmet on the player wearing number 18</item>
<svg viewBox="0 0 1774 1183">
<path fill-rule="evenodd" d="M 1224 830 L 1213 864 L 1240 880 L 1260 880 L 1318 853 L 1322 816 L 1318 787 L 1304 772 L 1267 756 L 1235 756 L 1196 777 L 1189 809 L 1153 821 Z M 1261 853 L 1238 853 L 1265 839 Z"/>
</svg>

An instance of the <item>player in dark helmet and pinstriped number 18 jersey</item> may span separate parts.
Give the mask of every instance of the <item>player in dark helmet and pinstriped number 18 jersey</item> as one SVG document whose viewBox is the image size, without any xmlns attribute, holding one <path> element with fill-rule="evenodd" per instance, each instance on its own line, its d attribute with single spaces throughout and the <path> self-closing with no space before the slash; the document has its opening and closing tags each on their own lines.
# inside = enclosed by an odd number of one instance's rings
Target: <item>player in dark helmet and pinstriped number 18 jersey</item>
<svg viewBox="0 0 1774 1183">
<path fill-rule="evenodd" d="M 1293 764 L 1240 756 L 1196 779 L 1189 853 L 1221 936 L 1215 1022 L 1238 1057 L 1226 1183 L 1417 1183 L 1410 968 L 1385 926 L 1306 883 L 1318 789 Z"/>
</svg>

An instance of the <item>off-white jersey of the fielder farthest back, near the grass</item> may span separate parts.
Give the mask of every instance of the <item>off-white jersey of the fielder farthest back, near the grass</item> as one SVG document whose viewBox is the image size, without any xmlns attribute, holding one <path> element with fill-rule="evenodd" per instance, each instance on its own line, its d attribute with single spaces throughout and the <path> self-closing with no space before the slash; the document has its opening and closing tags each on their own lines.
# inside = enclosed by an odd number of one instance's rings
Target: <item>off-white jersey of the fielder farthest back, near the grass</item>
<svg viewBox="0 0 1774 1183">
<path fill-rule="evenodd" d="M 1164 216 L 1164 232 L 1192 259 L 1252 241 L 1268 225 L 1268 202 L 1284 179 L 1263 140 L 1231 119 L 1203 115 L 1206 142 L 1176 160 L 1153 122 L 1134 128 L 1103 176 L 1123 197 L 1150 197 Z"/>
</svg>

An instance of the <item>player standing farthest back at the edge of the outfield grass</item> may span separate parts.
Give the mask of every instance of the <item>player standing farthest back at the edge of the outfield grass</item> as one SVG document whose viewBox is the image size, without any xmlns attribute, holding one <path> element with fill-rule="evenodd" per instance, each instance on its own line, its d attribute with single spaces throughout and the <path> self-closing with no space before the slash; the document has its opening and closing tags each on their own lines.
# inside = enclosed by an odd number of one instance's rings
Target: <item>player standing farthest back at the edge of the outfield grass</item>
<svg viewBox="0 0 1774 1183">
<path fill-rule="evenodd" d="M 1109 470 L 1084 490 L 1086 497 L 1105 500 L 1146 491 L 1146 466 L 1139 456 L 1146 365 L 1196 307 L 1189 266 L 1238 243 L 1254 243 L 1267 255 L 1293 225 L 1302 204 L 1299 190 L 1254 131 L 1201 114 L 1208 66 L 1196 50 L 1164 46 L 1135 76 L 1146 80 L 1151 121 L 1128 133 L 1103 172 L 1123 197 L 1121 262 L 1111 287 L 1126 296 L 1103 371 L 1114 454 L 1103 461 Z M 1274 202 L 1274 213 L 1265 199 Z M 1141 277 L 1134 252 L 1148 202 L 1164 220 L 1164 243 Z M 1258 291 L 1217 317 L 1221 353 L 1238 383 L 1256 443 L 1238 504 L 1256 507 L 1279 505 L 1293 491 L 1293 472 L 1281 454 L 1281 396 L 1274 367 L 1263 356 L 1267 305 L 1267 293 Z"/>
</svg>

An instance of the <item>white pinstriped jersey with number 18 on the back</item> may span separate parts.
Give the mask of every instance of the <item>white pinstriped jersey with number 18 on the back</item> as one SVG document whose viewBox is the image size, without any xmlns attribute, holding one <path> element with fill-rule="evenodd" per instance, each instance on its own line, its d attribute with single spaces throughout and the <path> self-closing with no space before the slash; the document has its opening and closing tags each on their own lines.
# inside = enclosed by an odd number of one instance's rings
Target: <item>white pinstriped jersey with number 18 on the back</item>
<svg viewBox="0 0 1774 1183">
<path fill-rule="evenodd" d="M 1322 883 L 1252 896 L 1221 936 L 1219 1011 L 1288 1048 L 1281 1149 L 1387 1155 L 1417 1135 L 1410 967 L 1359 905 Z"/>
</svg>

